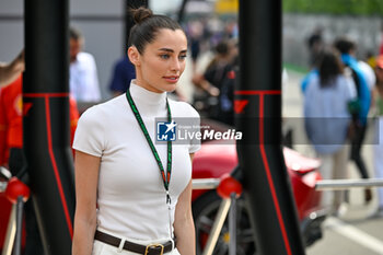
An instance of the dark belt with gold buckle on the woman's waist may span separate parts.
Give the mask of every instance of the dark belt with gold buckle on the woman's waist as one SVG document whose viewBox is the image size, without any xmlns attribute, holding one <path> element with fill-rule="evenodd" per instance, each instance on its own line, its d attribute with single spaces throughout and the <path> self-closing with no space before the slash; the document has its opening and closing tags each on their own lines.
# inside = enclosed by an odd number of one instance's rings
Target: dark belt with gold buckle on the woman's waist
<svg viewBox="0 0 383 255">
<path fill-rule="evenodd" d="M 103 233 L 98 230 L 96 230 L 94 234 L 94 239 L 98 240 L 103 243 L 109 244 L 115 247 L 119 247 L 121 243 L 121 239 L 115 237 L 113 235 Z M 137 244 L 137 243 L 131 243 L 129 241 L 125 241 L 123 250 L 126 250 L 128 252 L 134 252 L 138 254 L 143 254 L 143 255 L 162 255 L 164 253 L 171 252 L 173 248 L 173 242 L 167 241 L 164 244 L 149 244 L 147 246 Z"/>
</svg>

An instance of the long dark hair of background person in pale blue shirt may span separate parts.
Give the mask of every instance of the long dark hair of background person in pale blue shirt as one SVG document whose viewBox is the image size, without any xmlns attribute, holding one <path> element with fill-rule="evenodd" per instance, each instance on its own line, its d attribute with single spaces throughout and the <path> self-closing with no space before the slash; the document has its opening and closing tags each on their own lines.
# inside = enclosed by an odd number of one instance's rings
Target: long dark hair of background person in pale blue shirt
<svg viewBox="0 0 383 255">
<path fill-rule="evenodd" d="M 344 72 L 339 51 L 335 48 L 324 49 L 321 53 L 318 69 L 321 86 L 325 88 L 332 85 L 334 79 Z"/>
</svg>

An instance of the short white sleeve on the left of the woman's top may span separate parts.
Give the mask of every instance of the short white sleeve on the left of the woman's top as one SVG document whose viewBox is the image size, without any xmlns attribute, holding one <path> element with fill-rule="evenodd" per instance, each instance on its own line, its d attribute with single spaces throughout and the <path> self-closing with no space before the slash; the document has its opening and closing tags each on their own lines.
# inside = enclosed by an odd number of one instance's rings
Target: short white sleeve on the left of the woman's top
<svg viewBox="0 0 383 255">
<path fill-rule="evenodd" d="M 74 150 L 94 157 L 102 157 L 105 136 L 103 118 L 98 112 L 97 106 L 94 106 L 81 115 L 74 134 Z"/>
</svg>

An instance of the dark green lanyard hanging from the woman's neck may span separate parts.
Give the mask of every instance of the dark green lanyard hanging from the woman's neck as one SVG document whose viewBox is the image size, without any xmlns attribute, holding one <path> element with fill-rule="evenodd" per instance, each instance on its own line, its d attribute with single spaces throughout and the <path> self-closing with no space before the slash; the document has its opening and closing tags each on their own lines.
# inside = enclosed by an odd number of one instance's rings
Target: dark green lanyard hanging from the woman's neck
<svg viewBox="0 0 383 255">
<path fill-rule="evenodd" d="M 135 101 L 131 98 L 129 90 L 127 90 L 127 92 L 126 92 L 126 98 L 128 100 L 128 103 L 130 105 L 131 111 L 135 114 L 137 123 L 140 126 L 140 128 L 143 132 L 143 136 L 147 139 L 148 144 L 153 152 L 156 164 L 160 167 L 160 172 L 161 172 L 161 176 L 162 176 L 162 181 L 163 181 L 163 186 L 165 187 L 165 190 L 166 190 L 166 204 L 171 204 L 171 196 L 169 195 L 169 185 L 170 185 L 171 176 L 172 176 L 172 141 L 170 141 L 170 140 L 167 141 L 167 169 L 166 169 L 166 174 L 165 174 L 160 155 L 156 152 L 155 147 L 153 144 L 153 141 L 149 136 L 148 129 L 144 126 L 144 123 L 141 118 L 141 115 L 140 115 L 136 104 L 135 104 Z M 167 121 L 170 123 L 170 121 L 172 121 L 172 114 L 171 114 L 171 107 L 169 106 L 167 97 L 166 97 L 166 107 L 167 107 Z"/>
</svg>

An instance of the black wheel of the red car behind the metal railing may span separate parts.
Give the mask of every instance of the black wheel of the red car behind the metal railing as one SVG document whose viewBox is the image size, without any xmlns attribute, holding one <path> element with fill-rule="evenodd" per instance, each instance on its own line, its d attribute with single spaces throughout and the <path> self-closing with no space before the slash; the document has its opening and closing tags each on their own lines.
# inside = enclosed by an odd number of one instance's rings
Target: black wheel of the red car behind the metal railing
<svg viewBox="0 0 383 255">
<path fill-rule="evenodd" d="M 193 217 L 196 225 L 197 255 L 201 255 L 212 229 L 217 211 L 222 199 L 216 190 L 208 192 L 193 202 Z M 253 231 L 243 198 L 236 204 L 236 254 L 255 255 Z M 214 255 L 225 255 L 229 253 L 229 222 L 225 220 L 220 236 L 217 241 Z"/>
</svg>

